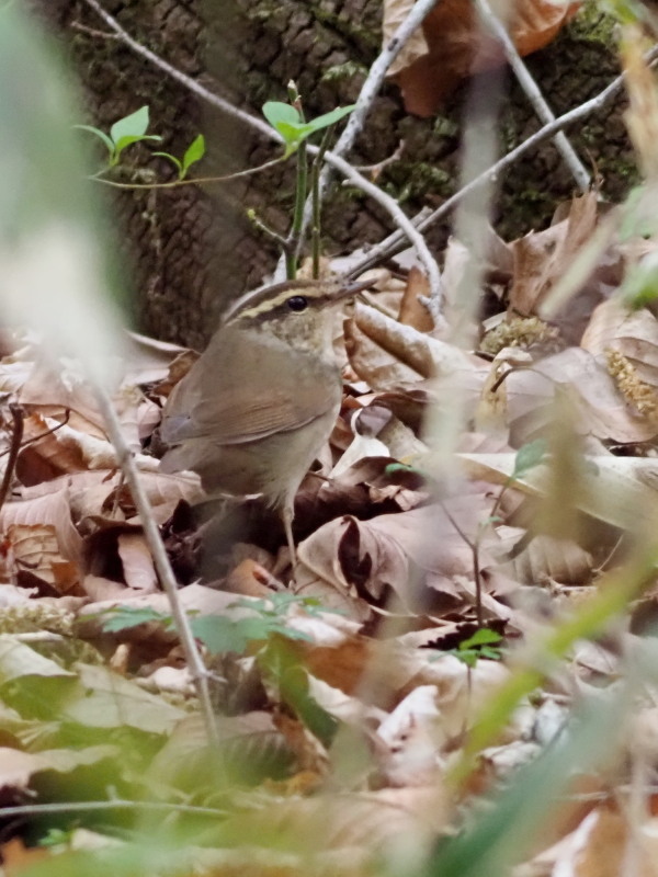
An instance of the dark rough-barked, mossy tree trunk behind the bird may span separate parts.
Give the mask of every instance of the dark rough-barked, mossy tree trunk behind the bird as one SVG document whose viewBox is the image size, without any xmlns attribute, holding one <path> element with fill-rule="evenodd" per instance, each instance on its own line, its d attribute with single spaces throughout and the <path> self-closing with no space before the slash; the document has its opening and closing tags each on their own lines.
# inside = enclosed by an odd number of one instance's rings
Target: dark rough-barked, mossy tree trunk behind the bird
<svg viewBox="0 0 658 877">
<path fill-rule="evenodd" d="M 259 113 L 266 100 L 285 100 L 294 79 L 309 116 L 352 103 L 381 42 L 381 0 L 103 0 L 104 8 L 143 45 L 235 105 Z M 83 0 L 32 0 L 60 35 L 83 83 L 90 121 L 107 130 L 117 118 L 148 104 L 158 149 L 182 156 L 201 130 L 208 156 L 193 175 L 257 167 L 276 149 L 239 122 L 203 105 L 188 89 L 138 57 Z M 556 114 L 595 94 L 616 75 L 611 24 L 591 7 L 529 65 Z M 407 115 L 394 84 L 376 99 L 353 158 L 373 164 L 405 141 L 401 158 L 378 183 L 409 213 L 438 206 L 456 187 L 461 113 L 467 87 L 430 119 Z M 501 118 L 501 149 L 537 128 L 527 100 L 510 80 Z M 621 103 L 568 132 L 580 156 L 603 179 L 603 191 L 623 197 L 635 168 Z M 82 136 L 82 135 L 81 135 Z M 166 160 L 143 147 L 125 152 L 133 170 L 154 168 L 173 179 Z M 252 208 L 279 232 L 291 216 L 292 162 L 268 172 L 203 189 L 113 190 L 132 259 L 140 328 L 160 338 L 201 346 L 223 304 L 261 282 L 276 248 L 247 218 Z M 499 182 L 497 227 L 504 237 L 545 225 L 572 180 L 551 144 L 514 166 Z M 324 212 L 328 252 L 379 240 L 387 215 L 351 187 L 336 186 Z M 449 224 L 430 234 L 440 248 Z"/>
</svg>

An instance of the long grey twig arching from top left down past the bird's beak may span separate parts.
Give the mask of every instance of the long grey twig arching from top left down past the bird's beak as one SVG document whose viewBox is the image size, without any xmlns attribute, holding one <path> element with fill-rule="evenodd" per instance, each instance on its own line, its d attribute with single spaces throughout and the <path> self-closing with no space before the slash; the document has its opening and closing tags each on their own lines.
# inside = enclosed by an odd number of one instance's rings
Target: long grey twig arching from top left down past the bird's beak
<svg viewBox="0 0 658 877">
<path fill-rule="evenodd" d="M 121 36 L 123 42 L 129 48 L 132 48 L 143 58 L 146 58 L 148 61 L 150 61 L 150 64 L 155 65 L 163 72 L 168 73 L 172 79 L 175 79 L 177 82 L 185 86 L 198 98 L 206 101 L 212 106 L 215 106 L 217 110 L 220 110 L 223 113 L 226 113 L 232 118 L 239 119 L 246 125 L 254 128 L 270 140 L 274 140 L 277 144 L 283 143 L 283 138 L 279 135 L 279 133 L 274 130 L 274 128 L 270 127 L 270 125 L 268 125 L 265 122 L 252 116 L 250 113 L 246 113 L 243 110 L 238 110 L 238 107 L 232 106 L 232 104 L 230 104 L 228 101 L 223 100 L 208 89 L 200 86 L 194 79 L 185 76 L 185 73 L 182 73 L 180 70 L 177 70 L 175 67 L 172 67 L 163 58 L 160 58 L 159 55 L 156 55 L 150 49 L 147 49 L 145 46 L 140 45 L 136 39 L 133 39 L 133 37 L 118 24 L 118 22 L 100 5 L 98 0 L 84 0 L 84 2 L 103 19 L 103 21 L 114 31 L 114 33 Z M 309 145 L 308 151 L 310 155 L 315 156 L 319 149 L 317 146 Z M 439 265 L 428 250 L 424 239 L 417 230 L 413 229 L 410 220 L 407 218 L 406 214 L 402 213 L 395 198 L 392 198 L 390 195 L 387 195 L 374 183 L 368 182 L 364 176 L 362 176 L 362 174 L 354 170 L 351 164 L 344 161 L 344 159 L 341 159 L 340 156 L 334 156 L 333 152 L 327 151 L 325 153 L 325 159 L 337 170 L 339 170 L 343 176 L 347 176 L 353 185 L 361 189 L 374 201 L 376 201 L 389 214 L 396 225 L 402 229 L 404 237 L 407 237 L 412 246 L 416 247 L 419 260 L 428 272 L 432 293 L 435 295 L 435 298 L 439 299 L 441 289 L 441 274 L 439 272 Z M 402 221 L 400 221 L 400 217 Z"/>
</svg>

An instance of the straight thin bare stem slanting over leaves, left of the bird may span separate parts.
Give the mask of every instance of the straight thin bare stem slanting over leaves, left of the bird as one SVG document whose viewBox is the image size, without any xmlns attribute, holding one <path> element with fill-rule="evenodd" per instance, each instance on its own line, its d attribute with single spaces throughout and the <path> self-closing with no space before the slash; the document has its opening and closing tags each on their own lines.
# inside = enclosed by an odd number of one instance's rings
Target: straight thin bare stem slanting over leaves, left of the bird
<svg viewBox="0 0 658 877">
<path fill-rule="evenodd" d="M 135 457 L 133 456 L 124 438 L 118 418 L 116 417 L 116 412 L 112 407 L 112 402 L 110 401 L 107 394 L 104 389 L 97 386 L 95 395 L 101 413 L 105 420 L 110 441 L 114 445 L 122 471 L 131 489 L 135 508 L 139 514 L 141 526 L 144 527 L 144 536 L 152 555 L 156 570 L 158 571 L 158 576 L 160 578 L 160 583 L 169 600 L 175 630 L 181 640 L 181 646 L 185 653 L 185 659 L 188 661 L 190 673 L 198 696 L 208 741 L 211 743 L 218 743 L 219 737 L 208 687 L 208 671 L 206 670 L 198 648 L 196 647 L 196 641 L 194 639 L 192 628 L 190 627 L 188 615 L 181 605 L 177 581 L 173 576 L 169 558 L 167 557 L 167 551 L 164 549 L 164 545 L 162 544 L 160 532 L 154 519 L 150 502 L 141 485 L 139 472 L 137 470 L 137 466 L 135 465 Z"/>
</svg>

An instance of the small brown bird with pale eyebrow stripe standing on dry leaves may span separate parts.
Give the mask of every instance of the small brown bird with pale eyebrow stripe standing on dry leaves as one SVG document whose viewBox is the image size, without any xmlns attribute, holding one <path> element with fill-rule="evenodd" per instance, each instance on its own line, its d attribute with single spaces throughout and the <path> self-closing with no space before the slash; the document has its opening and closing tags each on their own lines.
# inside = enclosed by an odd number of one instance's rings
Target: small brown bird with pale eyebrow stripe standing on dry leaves
<svg viewBox="0 0 658 877">
<path fill-rule="evenodd" d="M 209 494 L 262 493 L 281 514 L 293 563 L 295 493 L 342 395 L 332 306 L 368 285 L 288 281 L 247 293 L 164 406 L 162 470 L 192 469 Z"/>
</svg>

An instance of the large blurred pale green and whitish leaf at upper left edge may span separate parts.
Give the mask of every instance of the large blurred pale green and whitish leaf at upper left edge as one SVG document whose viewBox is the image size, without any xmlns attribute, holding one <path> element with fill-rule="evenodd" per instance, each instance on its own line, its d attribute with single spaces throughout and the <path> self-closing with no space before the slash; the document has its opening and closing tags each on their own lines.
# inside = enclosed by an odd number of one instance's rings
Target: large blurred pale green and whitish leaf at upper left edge
<svg viewBox="0 0 658 877">
<path fill-rule="evenodd" d="M 64 69 L 18 4 L 0 12 L 0 309 L 107 379 L 117 320 Z"/>
</svg>

